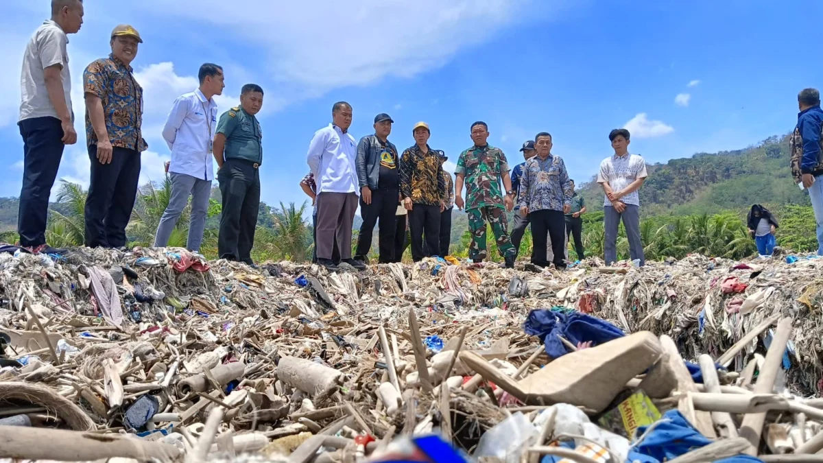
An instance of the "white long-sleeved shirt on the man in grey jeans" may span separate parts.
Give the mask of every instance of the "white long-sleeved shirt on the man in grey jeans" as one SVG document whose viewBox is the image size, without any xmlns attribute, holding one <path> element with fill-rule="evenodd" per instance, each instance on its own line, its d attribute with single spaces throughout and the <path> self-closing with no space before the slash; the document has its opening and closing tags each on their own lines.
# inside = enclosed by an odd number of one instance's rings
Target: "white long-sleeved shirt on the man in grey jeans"
<svg viewBox="0 0 823 463">
<path fill-rule="evenodd" d="M 214 180 L 212 141 L 217 129 L 217 104 L 197 90 L 174 100 L 163 138 L 171 150 L 169 171 Z"/>
</svg>

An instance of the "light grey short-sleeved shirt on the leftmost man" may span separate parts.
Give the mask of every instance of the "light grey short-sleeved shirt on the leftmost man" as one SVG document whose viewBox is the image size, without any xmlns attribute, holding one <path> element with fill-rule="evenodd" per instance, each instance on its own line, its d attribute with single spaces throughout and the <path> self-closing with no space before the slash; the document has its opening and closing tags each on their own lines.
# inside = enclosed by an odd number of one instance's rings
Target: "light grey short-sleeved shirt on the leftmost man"
<svg viewBox="0 0 823 463">
<path fill-rule="evenodd" d="M 26 52 L 23 54 L 23 72 L 20 77 L 21 103 L 20 120 L 35 117 L 55 117 L 57 110 L 46 89 L 45 68 L 58 64 L 60 79 L 63 81 L 63 96 L 66 98 L 68 114 L 72 115 L 72 76 L 68 72 L 68 36 L 54 21 L 45 21 L 35 30 Z"/>
</svg>

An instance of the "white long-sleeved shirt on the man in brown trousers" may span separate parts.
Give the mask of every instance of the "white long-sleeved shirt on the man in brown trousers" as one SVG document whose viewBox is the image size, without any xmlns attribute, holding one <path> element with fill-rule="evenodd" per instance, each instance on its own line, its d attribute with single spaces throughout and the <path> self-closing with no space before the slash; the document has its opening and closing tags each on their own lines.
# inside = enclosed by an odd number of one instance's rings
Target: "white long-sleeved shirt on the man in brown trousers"
<svg viewBox="0 0 823 463">
<path fill-rule="evenodd" d="M 314 174 L 317 193 L 356 193 L 357 143 L 355 138 L 334 124 L 314 133 L 306 161 Z"/>
</svg>

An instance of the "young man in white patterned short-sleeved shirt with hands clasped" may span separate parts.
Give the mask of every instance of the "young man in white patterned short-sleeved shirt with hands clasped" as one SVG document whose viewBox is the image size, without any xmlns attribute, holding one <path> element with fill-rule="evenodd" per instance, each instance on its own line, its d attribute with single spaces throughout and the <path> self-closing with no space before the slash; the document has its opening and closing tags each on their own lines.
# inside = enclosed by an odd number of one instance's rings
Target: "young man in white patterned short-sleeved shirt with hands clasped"
<svg viewBox="0 0 823 463">
<path fill-rule="evenodd" d="M 604 254 L 606 264 L 617 260 L 617 229 L 623 220 L 625 234 L 629 238 L 631 260 L 646 263 L 643 242 L 640 241 L 640 199 L 637 190 L 648 174 L 643 157 L 629 153 L 630 133 L 626 129 L 614 129 L 609 133 L 614 155 L 600 163 L 597 183 L 603 187 L 603 222 L 606 229 Z"/>
</svg>

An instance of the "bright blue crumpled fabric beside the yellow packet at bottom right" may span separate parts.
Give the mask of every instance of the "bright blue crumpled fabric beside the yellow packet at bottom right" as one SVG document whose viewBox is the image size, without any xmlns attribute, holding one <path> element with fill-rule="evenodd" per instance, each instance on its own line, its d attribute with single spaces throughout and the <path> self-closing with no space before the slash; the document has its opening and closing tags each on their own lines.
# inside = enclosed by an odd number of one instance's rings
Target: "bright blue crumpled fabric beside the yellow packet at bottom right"
<svg viewBox="0 0 823 463">
<path fill-rule="evenodd" d="M 640 463 L 660 463 L 681 456 L 689 451 L 705 447 L 711 443 L 677 411 L 670 410 L 663 415 L 663 423 L 658 425 L 629 453 L 630 461 Z M 645 426 L 637 430 L 637 435 L 646 431 Z M 756 463 L 754 456 L 738 455 L 718 460 L 723 463 Z"/>
</svg>

